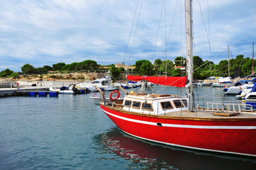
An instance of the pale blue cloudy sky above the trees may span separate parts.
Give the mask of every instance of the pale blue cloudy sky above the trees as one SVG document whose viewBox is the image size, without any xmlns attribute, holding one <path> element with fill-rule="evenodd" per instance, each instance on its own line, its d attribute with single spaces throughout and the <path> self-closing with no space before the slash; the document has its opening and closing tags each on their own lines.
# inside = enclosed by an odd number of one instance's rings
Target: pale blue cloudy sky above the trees
<svg viewBox="0 0 256 170">
<path fill-rule="evenodd" d="M 186 57 L 184 0 L 0 0 L 0 72 Z M 194 55 L 252 58 L 255 0 L 194 0 Z M 256 51 L 256 50 L 255 50 Z"/>
</svg>

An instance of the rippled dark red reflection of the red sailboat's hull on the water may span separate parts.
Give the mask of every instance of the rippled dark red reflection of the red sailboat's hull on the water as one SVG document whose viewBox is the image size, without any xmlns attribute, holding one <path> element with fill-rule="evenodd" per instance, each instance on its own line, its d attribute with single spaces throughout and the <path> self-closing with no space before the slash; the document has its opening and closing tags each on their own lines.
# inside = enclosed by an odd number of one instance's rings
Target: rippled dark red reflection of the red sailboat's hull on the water
<svg viewBox="0 0 256 170">
<path fill-rule="evenodd" d="M 253 157 L 234 157 L 229 154 L 212 154 L 158 145 L 130 137 L 118 128 L 113 128 L 94 138 L 96 139 L 98 140 L 96 143 L 100 145 L 99 149 L 103 152 L 102 159 L 106 153 L 108 153 L 106 159 L 120 160 L 121 157 L 128 160 L 128 169 L 254 169 L 256 167 L 256 160 Z M 113 157 L 109 158 L 109 154 Z"/>
</svg>

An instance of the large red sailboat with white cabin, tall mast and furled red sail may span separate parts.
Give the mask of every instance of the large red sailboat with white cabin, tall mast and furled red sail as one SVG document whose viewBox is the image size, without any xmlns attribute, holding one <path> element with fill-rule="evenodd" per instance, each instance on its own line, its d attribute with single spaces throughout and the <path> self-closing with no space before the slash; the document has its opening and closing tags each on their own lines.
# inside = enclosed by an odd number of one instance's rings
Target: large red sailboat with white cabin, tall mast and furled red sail
<svg viewBox="0 0 256 170">
<path fill-rule="evenodd" d="M 101 102 L 101 109 L 128 135 L 165 145 L 256 157 L 256 113 L 230 104 L 194 108 L 191 1 L 187 0 L 188 77 L 130 77 L 130 80 L 184 87 L 188 97 L 126 94 L 123 101 Z"/>
</svg>

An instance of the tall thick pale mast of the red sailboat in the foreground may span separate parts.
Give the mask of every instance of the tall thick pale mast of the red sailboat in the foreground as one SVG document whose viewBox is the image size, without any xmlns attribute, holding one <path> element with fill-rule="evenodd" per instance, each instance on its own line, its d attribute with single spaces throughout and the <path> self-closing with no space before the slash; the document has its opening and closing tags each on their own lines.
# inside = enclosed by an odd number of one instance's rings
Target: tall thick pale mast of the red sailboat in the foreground
<svg viewBox="0 0 256 170">
<path fill-rule="evenodd" d="M 187 29 L 187 74 L 189 84 L 187 87 L 187 94 L 189 97 L 189 110 L 194 111 L 194 93 L 193 93 L 193 51 L 192 51 L 192 4 L 191 0 L 186 0 L 186 29 Z"/>
</svg>

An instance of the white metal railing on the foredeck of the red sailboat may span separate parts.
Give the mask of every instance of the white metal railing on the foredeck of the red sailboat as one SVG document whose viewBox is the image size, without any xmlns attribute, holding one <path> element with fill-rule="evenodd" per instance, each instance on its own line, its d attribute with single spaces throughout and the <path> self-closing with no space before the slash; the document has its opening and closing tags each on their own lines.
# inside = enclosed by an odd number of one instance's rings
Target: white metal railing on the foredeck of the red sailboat
<svg viewBox="0 0 256 170">
<path fill-rule="evenodd" d="M 252 113 L 252 106 L 243 103 L 207 103 L 206 111 Z"/>
</svg>

